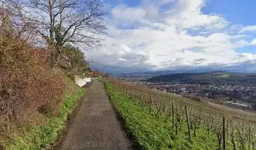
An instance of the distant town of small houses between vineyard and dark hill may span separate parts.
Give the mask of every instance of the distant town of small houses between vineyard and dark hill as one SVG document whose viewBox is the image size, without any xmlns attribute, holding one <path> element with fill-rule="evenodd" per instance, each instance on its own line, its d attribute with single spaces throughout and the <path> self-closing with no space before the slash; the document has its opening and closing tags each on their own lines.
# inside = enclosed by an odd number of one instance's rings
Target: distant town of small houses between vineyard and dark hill
<svg viewBox="0 0 256 150">
<path fill-rule="evenodd" d="M 121 78 L 133 84 L 145 85 L 149 88 L 180 94 L 183 97 L 211 101 L 241 110 L 256 110 L 256 85 L 239 84 L 232 80 L 215 83 L 183 83 L 150 81 L 149 78 Z M 230 80 L 230 78 L 229 78 Z M 253 81 L 252 81 L 253 82 Z"/>
</svg>

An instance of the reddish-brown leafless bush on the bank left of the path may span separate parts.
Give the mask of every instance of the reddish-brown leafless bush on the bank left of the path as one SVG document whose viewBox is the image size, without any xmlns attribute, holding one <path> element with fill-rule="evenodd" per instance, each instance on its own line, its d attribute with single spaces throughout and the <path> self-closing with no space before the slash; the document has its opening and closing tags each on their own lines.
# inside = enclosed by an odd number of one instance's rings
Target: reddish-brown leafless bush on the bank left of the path
<svg viewBox="0 0 256 150">
<path fill-rule="evenodd" d="M 35 111 L 57 114 L 63 79 L 47 64 L 47 51 L 0 35 L 0 127 L 24 122 Z M 1 128 L 0 128 L 1 129 Z"/>
</svg>

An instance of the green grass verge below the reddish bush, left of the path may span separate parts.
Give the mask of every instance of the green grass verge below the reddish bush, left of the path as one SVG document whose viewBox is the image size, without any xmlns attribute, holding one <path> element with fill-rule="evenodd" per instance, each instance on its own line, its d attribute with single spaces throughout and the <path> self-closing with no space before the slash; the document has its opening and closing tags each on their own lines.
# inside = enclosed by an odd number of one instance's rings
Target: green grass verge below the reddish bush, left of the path
<svg viewBox="0 0 256 150">
<path fill-rule="evenodd" d="M 65 126 L 68 115 L 72 112 L 76 102 L 84 95 L 85 89 L 79 88 L 69 78 L 65 78 L 67 88 L 57 117 L 35 115 L 33 120 L 22 128 L 19 134 L 13 134 L 13 140 L 6 149 L 46 149 L 57 140 L 61 129 Z M 41 122 L 41 123 L 38 123 Z"/>
</svg>

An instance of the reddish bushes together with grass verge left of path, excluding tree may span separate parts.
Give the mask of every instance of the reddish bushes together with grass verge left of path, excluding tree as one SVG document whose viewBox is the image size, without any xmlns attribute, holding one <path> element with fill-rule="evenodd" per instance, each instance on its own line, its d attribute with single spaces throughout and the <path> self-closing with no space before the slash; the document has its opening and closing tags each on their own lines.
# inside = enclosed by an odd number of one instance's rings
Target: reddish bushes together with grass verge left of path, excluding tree
<svg viewBox="0 0 256 150">
<path fill-rule="evenodd" d="M 50 147 L 84 88 L 9 32 L 0 37 L 0 149 Z"/>
</svg>

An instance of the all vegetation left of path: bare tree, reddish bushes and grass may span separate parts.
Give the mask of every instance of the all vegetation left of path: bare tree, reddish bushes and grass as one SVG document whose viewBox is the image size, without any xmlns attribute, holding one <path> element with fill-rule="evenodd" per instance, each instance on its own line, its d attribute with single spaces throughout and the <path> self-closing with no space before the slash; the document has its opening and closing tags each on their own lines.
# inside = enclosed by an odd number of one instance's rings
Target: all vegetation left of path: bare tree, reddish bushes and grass
<svg viewBox="0 0 256 150">
<path fill-rule="evenodd" d="M 0 0 L 0 149 L 47 149 L 84 95 L 74 76 L 94 76 L 81 49 L 100 43 L 104 3 L 22 2 Z"/>
</svg>

